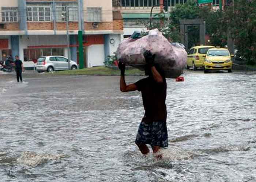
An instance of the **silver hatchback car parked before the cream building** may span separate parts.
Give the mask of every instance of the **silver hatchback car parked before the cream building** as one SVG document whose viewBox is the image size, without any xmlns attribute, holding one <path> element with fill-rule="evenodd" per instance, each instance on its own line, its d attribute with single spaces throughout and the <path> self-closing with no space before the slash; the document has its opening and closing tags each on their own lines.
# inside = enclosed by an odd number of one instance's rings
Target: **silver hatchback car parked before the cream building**
<svg viewBox="0 0 256 182">
<path fill-rule="evenodd" d="M 70 69 L 78 68 L 76 62 L 69 61 Z M 42 56 L 37 60 L 36 69 L 38 72 L 52 72 L 54 70 L 68 70 L 68 58 L 64 56 Z"/>
</svg>

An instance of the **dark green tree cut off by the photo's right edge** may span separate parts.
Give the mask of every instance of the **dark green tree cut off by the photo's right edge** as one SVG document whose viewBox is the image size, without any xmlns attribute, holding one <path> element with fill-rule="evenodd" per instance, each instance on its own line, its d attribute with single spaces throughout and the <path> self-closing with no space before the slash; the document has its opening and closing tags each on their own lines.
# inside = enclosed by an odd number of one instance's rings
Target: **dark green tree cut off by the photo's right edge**
<svg viewBox="0 0 256 182">
<path fill-rule="evenodd" d="M 256 0 L 236 0 L 225 11 L 225 20 L 238 54 L 245 56 L 249 64 L 256 59 Z"/>
</svg>

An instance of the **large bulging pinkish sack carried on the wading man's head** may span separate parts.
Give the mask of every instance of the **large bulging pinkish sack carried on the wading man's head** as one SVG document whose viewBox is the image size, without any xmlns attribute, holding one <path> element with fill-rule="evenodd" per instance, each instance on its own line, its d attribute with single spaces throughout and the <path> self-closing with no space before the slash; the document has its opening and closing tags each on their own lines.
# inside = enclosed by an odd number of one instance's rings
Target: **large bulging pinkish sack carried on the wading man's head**
<svg viewBox="0 0 256 182">
<path fill-rule="evenodd" d="M 129 66 L 144 70 L 146 60 L 143 53 L 146 50 L 156 54 L 155 64 L 160 66 L 167 78 L 177 78 L 187 65 L 185 49 L 172 46 L 158 29 L 150 30 L 147 36 L 140 39 L 124 39 L 117 48 L 117 58 Z"/>
</svg>

